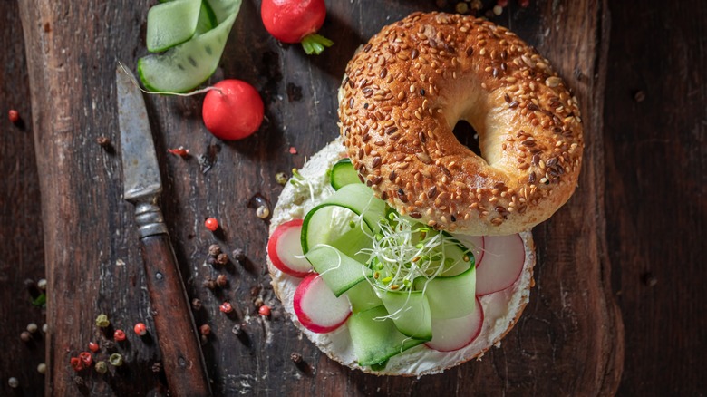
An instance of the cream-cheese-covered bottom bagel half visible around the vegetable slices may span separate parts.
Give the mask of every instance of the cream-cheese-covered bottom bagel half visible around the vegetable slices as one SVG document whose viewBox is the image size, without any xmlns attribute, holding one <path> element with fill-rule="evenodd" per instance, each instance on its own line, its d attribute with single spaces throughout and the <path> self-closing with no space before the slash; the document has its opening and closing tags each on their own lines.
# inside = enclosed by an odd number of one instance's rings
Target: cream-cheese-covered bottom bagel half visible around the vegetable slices
<svg viewBox="0 0 707 397">
<path fill-rule="evenodd" d="M 344 146 L 340 140 L 334 140 L 323 150 L 307 161 L 299 173 L 305 183 L 287 183 L 280 194 L 273 218 L 270 223 L 270 235 L 278 225 L 297 218 L 305 218 L 307 211 L 314 208 L 323 199 L 334 193 L 329 184 L 328 169 L 334 162 L 344 157 Z M 267 265 L 272 276 L 272 286 L 282 302 L 287 315 L 295 326 L 332 360 L 377 375 L 421 376 L 441 373 L 472 358 L 480 358 L 491 346 L 500 346 L 500 340 L 518 321 L 523 309 L 528 304 L 530 287 L 533 282 L 535 265 L 535 247 L 529 231 L 520 233 L 526 251 L 526 259 L 521 276 L 512 286 L 494 294 L 481 296 L 479 301 L 484 311 L 481 334 L 471 344 L 453 352 L 438 352 L 424 344 L 413 347 L 402 354 L 393 356 L 382 371 L 373 371 L 370 367 L 361 367 L 356 363 L 353 345 L 346 324 L 328 334 L 315 334 L 307 330 L 297 320 L 293 306 L 295 289 L 301 278 L 288 276 L 273 266 L 270 258 Z M 463 237 L 460 237 L 462 239 Z"/>
</svg>

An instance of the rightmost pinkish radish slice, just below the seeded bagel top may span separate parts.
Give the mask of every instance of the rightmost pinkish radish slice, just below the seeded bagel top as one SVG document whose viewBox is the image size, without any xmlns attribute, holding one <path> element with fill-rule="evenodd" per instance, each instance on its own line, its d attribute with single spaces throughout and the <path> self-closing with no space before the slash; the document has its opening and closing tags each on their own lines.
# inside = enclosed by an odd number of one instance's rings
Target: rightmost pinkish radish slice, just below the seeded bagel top
<svg viewBox="0 0 707 397">
<path fill-rule="evenodd" d="M 520 235 L 484 237 L 484 251 L 484 266 L 476 270 L 476 295 L 512 286 L 526 262 L 526 249 Z"/>
</svg>

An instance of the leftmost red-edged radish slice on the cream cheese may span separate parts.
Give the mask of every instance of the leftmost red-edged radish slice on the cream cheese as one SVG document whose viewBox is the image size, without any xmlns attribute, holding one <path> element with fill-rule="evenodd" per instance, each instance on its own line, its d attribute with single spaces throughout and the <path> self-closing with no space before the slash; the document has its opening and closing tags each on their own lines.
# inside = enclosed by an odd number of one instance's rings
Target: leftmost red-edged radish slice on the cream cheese
<svg viewBox="0 0 707 397">
<path fill-rule="evenodd" d="M 294 219 L 278 226 L 267 242 L 267 255 L 280 271 L 295 277 L 312 272 L 312 264 L 302 253 L 300 235 L 302 219 Z"/>
</svg>

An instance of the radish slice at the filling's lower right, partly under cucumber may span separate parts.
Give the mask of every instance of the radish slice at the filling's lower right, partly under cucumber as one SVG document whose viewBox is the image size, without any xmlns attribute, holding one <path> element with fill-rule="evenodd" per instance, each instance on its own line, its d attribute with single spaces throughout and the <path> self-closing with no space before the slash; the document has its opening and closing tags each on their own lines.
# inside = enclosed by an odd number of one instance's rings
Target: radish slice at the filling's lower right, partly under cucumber
<svg viewBox="0 0 707 397">
<path fill-rule="evenodd" d="M 425 345 L 438 352 L 453 352 L 479 337 L 484 324 L 484 310 L 476 298 L 476 309 L 470 315 L 432 320 L 432 340 Z"/>
</svg>

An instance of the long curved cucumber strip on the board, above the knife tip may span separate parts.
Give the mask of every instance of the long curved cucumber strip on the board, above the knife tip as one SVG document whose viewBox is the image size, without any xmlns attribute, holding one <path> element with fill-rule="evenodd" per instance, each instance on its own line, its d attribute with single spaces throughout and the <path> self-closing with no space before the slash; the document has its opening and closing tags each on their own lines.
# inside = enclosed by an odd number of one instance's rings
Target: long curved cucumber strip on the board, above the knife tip
<svg viewBox="0 0 707 397">
<path fill-rule="evenodd" d="M 209 1 L 218 26 L 166 53 L 140 58 L 138 73 L 142 84 L 152 92 L 188 92 L 205 82 L 216 71 L 240 3 L 240 0 Z M 230 14 L 224 19 L 226 11 Z"/>
</svg>

